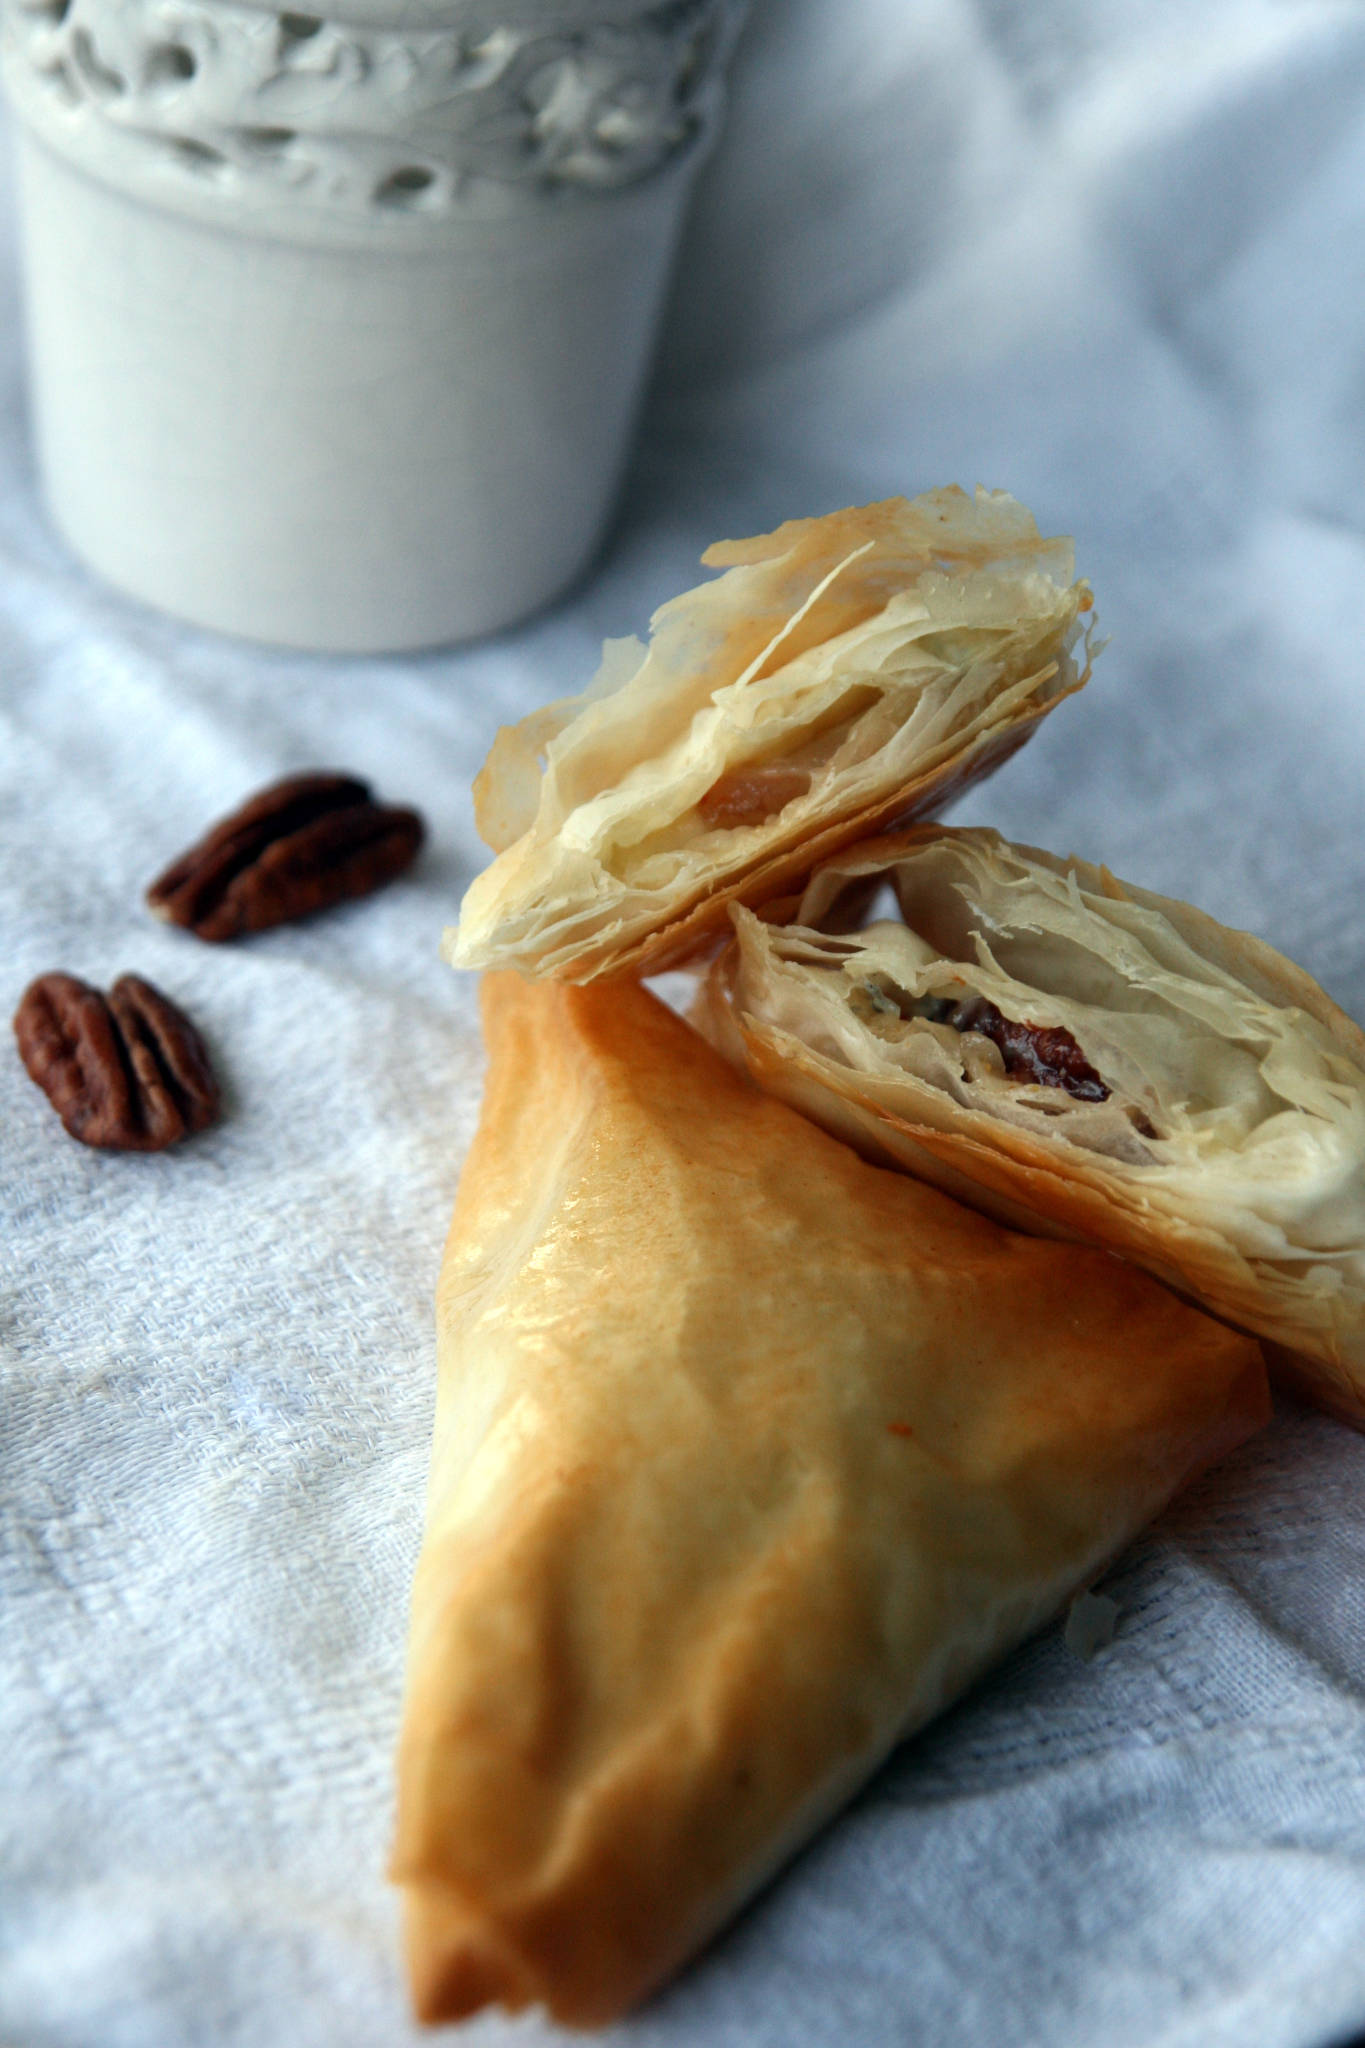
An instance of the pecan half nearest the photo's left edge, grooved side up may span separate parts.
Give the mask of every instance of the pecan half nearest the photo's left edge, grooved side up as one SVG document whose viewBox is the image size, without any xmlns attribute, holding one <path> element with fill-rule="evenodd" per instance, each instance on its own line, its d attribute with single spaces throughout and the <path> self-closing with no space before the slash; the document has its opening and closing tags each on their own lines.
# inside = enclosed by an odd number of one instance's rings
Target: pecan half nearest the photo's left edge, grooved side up
<svg viewBox="0 0 1365 2048">
<path fill-rule="evenodd" d="M 39 975 L 14 1012 L 18 1057 L 82 1145 L 164 1151 L 219 1114 L 205 1042 L 160 989 L 121 975 L 100 995 Z"/>
</svg>

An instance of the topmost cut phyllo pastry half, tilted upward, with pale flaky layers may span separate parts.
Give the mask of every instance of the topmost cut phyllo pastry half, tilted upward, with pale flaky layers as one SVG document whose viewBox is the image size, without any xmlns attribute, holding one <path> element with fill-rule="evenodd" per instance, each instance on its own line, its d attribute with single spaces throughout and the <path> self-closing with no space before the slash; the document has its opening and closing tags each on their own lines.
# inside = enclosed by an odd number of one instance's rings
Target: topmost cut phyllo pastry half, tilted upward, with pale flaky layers
<svg viewBox="0 0 1365 2048">
<path fill-rule="evenodd" d="M 649 647 L 608 641 L 583 696 L 503 727 L 475 784 L 497 860 L 454 967 L 589 981 L 704 950 L 731 899 L 935 817 L 1070 690 L 1070 541 L 1005 492 L 929 492 L 790 520 L 702 557 Z"/>
</svg>

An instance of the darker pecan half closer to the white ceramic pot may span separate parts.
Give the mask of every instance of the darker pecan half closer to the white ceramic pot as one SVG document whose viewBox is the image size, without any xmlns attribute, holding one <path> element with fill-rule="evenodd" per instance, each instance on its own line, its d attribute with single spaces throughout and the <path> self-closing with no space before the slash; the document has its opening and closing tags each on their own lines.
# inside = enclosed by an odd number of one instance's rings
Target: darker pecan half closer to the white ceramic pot
<svg viewBox="0 0 1365 2048">
<path fill-rule="evenodd" d="M 411 866 L 424 836 L 415 811 L 375 803 L 356 776 L 295 774 L 180 854 L 147 903 L 196 938 L 241 938 L 383 889 Z"/>
</svg>

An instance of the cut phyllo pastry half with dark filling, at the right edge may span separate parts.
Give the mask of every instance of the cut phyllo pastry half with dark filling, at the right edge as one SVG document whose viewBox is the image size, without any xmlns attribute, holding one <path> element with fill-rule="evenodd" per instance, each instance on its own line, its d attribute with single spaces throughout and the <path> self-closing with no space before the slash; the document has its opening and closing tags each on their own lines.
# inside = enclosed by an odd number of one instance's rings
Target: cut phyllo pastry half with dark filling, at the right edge
<svg viewBox="0 0 1365 2048">
<path fill-rule="evenodd" d="M 870 842 L 786 928 L 735 922 L 698 1022 L 763 1087 L 1138 1260 L 1365 1421 L 1365 1036 L 1297 967 L 995 831 Z"/>
</svg>

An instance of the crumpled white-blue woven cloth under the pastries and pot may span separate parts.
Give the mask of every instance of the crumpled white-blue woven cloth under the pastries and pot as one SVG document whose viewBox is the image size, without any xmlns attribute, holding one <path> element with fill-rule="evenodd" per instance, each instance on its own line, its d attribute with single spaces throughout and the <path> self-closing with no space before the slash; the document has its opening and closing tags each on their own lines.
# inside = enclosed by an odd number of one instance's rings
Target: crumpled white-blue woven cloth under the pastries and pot
<svg viewBox="0 0 1365 2048">
<path fill-rule="evenodd" d="M 475 993 L 436 942 L 493 727 L 718 535 L 943 481 L 1076 535 L 1095 682 L 956 813 L 1189 897 L 1365 1014 L 1365 10 L 769 0 L 626 502 L 518 631 L 313 659 L 45 524 L 0 262 L 4 1001 L 137 971 L 219 1128 L 70 1143 L 0 1057 L 0 2042 L 413 2042 L 383 1880 Z M 6 207 L 8 219 L 8 207 Z M 141 889 L 305 766 L 417 803 L 235 948 Z M 620 2048 L 1330 2048 L 1365 2030 L 1365 1438 L 1283 1409 L 907 1745 Z M 483 2015 L 479 2048 L 559 2040 Z"/>
</svg>

